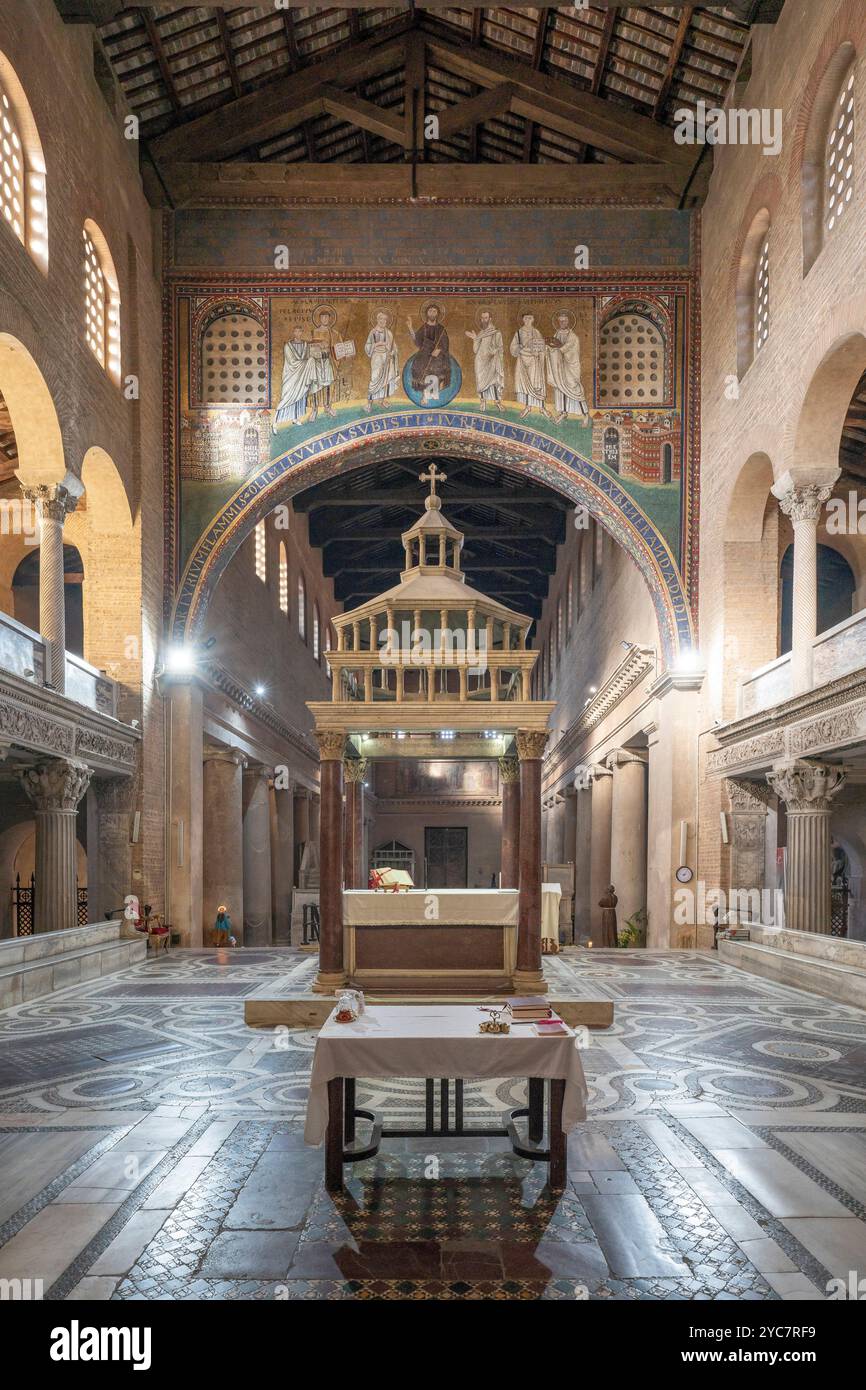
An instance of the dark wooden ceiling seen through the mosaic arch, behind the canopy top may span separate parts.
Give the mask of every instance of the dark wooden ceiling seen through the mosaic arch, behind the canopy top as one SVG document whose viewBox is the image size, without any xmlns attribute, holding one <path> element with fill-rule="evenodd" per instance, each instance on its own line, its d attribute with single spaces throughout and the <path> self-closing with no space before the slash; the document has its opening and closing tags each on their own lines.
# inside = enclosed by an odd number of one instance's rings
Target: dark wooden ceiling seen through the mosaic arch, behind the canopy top
<svg viewBox="0 0 866 1390">
<path fill-rule="evenodd" d="M 425 460 L 427 463 L 427 460 Z M 467 584 L 531 617 L 541 617 L 556 546 L 566 539 L 570 503 L 542 484 L 493 464 L 438 459 L 448 475 L 445 516 L 464 534 Z M 352 609 L 398 582 L 400 535 L 424 505 L 417 459 L 356 468 L 295 498 L 307 514 L 310 543 L 321 549 L 335 598 Z"/>
</svg>

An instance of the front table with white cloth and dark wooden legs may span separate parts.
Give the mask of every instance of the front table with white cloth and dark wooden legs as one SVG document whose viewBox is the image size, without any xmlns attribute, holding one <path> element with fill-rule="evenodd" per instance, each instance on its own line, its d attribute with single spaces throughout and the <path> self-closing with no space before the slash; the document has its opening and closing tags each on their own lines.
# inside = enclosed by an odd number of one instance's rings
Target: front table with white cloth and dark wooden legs
<svg viewBox="0 0 866 1390">
<path fill-rule="evenodd" d="M 354 1023 L 336 1023 L 334 1015 L 316 1040 L 304 1141 L 325 1140 L 325 1186 L 342 1188 L 345 1162 L 360 1162 L 378 1152 L 389 1136 L 507 1136 L 524 1158 L 549 1163 L 552 1187 L 566 1183 L 564 1136 L 587 1113 L 587 1081 L 574 1033 L 538 1037 L 531 1023 L 512 1024 L 507 1034 L 485 1034 L 478 1024 L 485 1015 L 473 1004 L 375 1005 Z M 354 1106 L 354 1079 L 424 1077 L 427 1125 L 423 1130 L 384 1129 L 371 1111 Z M 439 1077 L 441 1123 L 434 1129 L 432 1079 Z M 530 1105 L 510 1112 L 502 1129 L 463 1127 L 463 1079 L 527 1077 Z M 455 1079 L 455 1122 L 450 1120 L 449 1080 Z M 541 1148 L 542 1091 L 549 1081 L 548 1148 Z M 371 1140 L 354 1144 L 356 1118 L 373 1122 Z M 514 1127 L 528 1118 L 527 1138 Z"/>
</svg>

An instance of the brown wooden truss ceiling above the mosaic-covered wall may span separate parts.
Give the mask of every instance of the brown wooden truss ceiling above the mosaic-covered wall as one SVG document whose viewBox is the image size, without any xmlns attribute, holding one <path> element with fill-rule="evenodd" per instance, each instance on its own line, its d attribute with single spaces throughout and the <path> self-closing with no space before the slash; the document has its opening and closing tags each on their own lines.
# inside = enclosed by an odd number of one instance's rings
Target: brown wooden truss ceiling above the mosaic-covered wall
<svg viewBox="0 0 866 1390">
<path fill-rule="evenodd" d="M 521 175 L 530 196 L 557 178 L 569 188 L 580 168 L 582 188 L 677 202 L 696 192 L 699 152 L 674 142 L 674 113 L 724 99 L 753 11 L 755 0 L 411 13 L 152 4 L 121 10 L 99 40 L 174 202 L 220 183 L 234 196 L 250 179 L 309 195 L 322 165 L 322 192 L 375 165 L 381 195 L 381 167 L 406 164 L 434 189 L 460 164 L 489 167 L 492 192 L 506 165 L 520 190 L 514 165 L 537 165 Z M 430 115 L 438 138 L 425 139 Z"/>
</svg>

